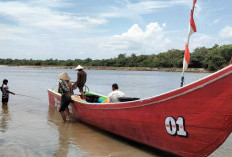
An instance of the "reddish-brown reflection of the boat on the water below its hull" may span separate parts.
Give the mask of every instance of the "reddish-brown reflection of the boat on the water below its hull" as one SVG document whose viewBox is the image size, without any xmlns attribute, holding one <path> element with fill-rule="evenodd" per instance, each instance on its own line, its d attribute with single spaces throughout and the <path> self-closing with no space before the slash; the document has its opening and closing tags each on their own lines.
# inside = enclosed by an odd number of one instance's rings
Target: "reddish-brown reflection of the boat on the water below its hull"
<svg viewBox="0 0 232 157">
<path fill-rule="evenodd" d="M 59 112 L 49 107 L 48 120 L 57 127 L 58 145 L 54 157 L 157 157 L 172 154 L 112 135 L 95 127 L 71 121 L 64 123 Z"/>
</svg>

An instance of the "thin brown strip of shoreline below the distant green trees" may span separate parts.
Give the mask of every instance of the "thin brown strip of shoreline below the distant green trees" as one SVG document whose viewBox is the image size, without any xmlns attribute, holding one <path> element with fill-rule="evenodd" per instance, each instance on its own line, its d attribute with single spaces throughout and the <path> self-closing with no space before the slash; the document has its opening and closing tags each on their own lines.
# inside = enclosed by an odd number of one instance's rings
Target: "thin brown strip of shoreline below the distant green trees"
<svg viewBox="0 0 232 157">
<path fill-rule="evenodd" d="M 0 65 L 6 67 L 25 67 L 25 68 L 47 68 L 47 69 L 74 69 L 76 66 L 34 66 L 34 65 Z M 90 70 L 122 70 L 122 71 L 164 71 L 164 72 L 182 72 L 182 68 L 149 68 L 149 67 L 105 67 L 105 66 L 84 66 Z M 188 68 L 186 72 L 210 73 L 204 68 Z"/>
</svg>

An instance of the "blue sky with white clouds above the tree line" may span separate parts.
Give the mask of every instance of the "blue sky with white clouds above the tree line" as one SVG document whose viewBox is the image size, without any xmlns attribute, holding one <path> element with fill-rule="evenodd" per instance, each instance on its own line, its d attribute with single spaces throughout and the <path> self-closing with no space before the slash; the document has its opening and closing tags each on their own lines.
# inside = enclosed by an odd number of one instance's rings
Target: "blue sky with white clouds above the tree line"
<svg viewBox="0 0 232 157">
<path fill-rule="evenodd" d="M 232 44 L 232 1 L 197 0 L 190 51 Z M 0 0 L 0 58 L 106 59 L 184 49 L 192 0 Z"/>
</svg>

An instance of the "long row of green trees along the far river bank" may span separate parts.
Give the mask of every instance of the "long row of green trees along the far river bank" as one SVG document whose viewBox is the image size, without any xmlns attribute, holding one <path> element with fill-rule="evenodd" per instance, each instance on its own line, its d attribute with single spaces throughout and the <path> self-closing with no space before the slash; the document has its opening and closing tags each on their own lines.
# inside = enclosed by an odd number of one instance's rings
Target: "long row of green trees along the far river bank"
<svg viewBox="0 0 232 157">
<path fill-rule="evenodd" d="M 172 49 L 151 55 L 119 54 L 110 59 L 1 59 L 0 65 L 35 65 L 35 66 L 107 66 L 107 67 L 150 67 L 182 68 L 184 50 Z M 191 53 L 189 68 L 204 68 L 216 71 L 229 64 L 232 57 L 232 44 L 214 45 L 211 48 L 199 47 Z"/>
</svg>

